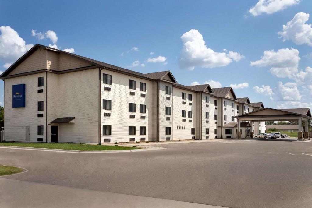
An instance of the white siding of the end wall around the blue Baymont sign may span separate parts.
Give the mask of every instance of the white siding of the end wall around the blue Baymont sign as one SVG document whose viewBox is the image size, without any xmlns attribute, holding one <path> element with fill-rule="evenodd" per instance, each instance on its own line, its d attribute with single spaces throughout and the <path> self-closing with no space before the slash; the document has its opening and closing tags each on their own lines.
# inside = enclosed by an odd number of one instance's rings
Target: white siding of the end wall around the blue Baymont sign
<svg viewBox="0 0 312 208">
<path fill-rule="evenodd" d="M 38 77 L 44 77 L 44 86 L 38 87 Z M 25 84 L 25 108 L 12 108 L 12 85 Z M 30 126 L 30 141 L 37 138 L 46 141 L 46 73 L 6 79 L 4 81 L 4 139 L 6 141 L 26 141 L 26 126 Z M 43 89 L 38 93 L 37 89 Z M 38 111 L 38 101 L 44 101 L 44 111 Z M 37 114 L 43 117 L 37 117 Z M 43 135 L 37 135 L 37 126 L 43 127 Z"/>
</svg>

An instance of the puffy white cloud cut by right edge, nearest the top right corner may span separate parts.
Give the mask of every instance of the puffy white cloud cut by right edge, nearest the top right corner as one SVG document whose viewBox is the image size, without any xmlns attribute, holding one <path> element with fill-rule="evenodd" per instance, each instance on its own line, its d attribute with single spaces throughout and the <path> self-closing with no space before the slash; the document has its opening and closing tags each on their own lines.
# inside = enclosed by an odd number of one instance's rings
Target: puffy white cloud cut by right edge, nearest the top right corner
<svg viewBox="0 0 312 208">
<path fill-rule="evenodd" d="M 309 14 L 299 12 L 295 17 L 283 25 L 283 31 L 278 32 L 283 41 L 292 40 L 297 45 L 308 44 L 312 46 L 311 24 L 305 24 L 309 20 Z"/>
</svg>

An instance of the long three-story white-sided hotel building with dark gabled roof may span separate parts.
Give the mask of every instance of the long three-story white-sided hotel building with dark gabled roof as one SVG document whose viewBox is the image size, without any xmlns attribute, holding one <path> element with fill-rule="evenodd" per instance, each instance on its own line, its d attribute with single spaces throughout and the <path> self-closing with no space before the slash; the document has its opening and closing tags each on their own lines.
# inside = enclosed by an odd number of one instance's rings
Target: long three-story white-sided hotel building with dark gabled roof
<svg viewBox="0 0 312 208">
<path fill-rule="evenodd" d="M 142 74 L 39 44 L 0 78 L 7 141 L 236 138 L 234 117 L 264 107 L 231 87 L 180 85 L 170 71 Z M 242 124 L 243 137 L 246 129 L 266 126 Z"/>
</svg>

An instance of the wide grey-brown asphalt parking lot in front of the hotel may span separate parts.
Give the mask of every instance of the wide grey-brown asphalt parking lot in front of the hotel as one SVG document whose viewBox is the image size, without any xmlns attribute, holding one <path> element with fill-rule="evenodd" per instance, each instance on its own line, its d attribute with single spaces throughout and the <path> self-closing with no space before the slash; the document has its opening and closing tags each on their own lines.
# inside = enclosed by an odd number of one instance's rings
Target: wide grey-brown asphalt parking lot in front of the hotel
<svg viewBox="0 0 312 208">
<path fill-rule="evenodd" d="M 215 140 L 76 154 L 0 149 L 5 178 L 225 207 L 312 207 L 312 142 Z"/>
</svg>

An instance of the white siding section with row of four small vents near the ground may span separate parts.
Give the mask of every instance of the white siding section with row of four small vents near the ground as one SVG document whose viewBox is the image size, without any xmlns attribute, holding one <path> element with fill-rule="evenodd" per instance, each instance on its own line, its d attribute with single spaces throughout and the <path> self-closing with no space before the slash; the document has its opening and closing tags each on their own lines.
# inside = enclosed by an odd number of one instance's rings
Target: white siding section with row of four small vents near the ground
<svg viewBox="0 0 312 208">
<path fill-rule="evenodd" d="M 186 99 L 182 99 L 182 92 L 186 93 Z M 192 101 L 188 100 L 188 94 L 192 94 Z M 182 102 L 185 104 L 182 104 Z M 189 105 L 192 103 L 192 105 Z M 182 117 L 182 110 L 186 111 L 186 117 Z M 198 109 L 199 110 L 199 109 Z M 192 118 L 188 118 L 188 111 L 192 111 Z M 199 133 L 199 127 L 196 128 L 196 94 L 194 92 L 173 88 L 173 140 L 192 139 L 191 128 L 195 128 L 195 133 Z M 185 122 L 182 121 L 185 119 Z M 192 120 L 192 122 L 189 122 Z M 178 127 L 178 129 L 177 129 Z M 185 128 L 184 128 L 185 127 Z"/>
</svg>

